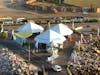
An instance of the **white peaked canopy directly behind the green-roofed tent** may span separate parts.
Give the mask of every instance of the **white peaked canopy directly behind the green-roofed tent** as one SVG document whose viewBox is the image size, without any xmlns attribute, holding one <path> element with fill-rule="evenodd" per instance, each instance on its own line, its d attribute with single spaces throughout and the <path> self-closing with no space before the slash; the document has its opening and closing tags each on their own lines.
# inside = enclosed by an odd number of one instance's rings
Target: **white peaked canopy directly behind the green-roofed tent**
<svg viewBox="0 0 100 75">
<path fill-rule="evenodd" d="M 27 22 L 25 25 L 20 26 L 17 31 L 28 31 L 32 33 L 42 32 L 44 29 L 42 26 L 35 24 L 34 22 Z"/>
</svg>

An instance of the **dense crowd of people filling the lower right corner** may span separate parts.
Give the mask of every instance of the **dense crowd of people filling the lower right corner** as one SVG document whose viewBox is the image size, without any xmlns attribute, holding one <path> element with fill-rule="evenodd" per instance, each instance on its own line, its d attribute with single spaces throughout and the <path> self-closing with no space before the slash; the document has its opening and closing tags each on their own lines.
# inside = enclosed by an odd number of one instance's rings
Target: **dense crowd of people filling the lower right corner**
<svg viewBox="0 0 100 75">
<path fill-rule="evenodd" d="M 73 52 L 69 64 L 74 75 L 100 75 L 100 38 Z"/>
</svg>

